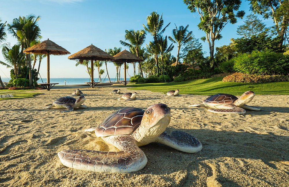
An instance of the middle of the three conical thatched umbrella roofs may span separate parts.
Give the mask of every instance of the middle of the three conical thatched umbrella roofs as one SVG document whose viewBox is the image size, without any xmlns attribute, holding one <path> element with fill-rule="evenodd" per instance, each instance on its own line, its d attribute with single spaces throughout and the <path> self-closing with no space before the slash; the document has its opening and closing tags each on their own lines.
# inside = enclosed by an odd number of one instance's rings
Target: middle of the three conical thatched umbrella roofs
<svg viewBox="0 0 289 187">
<path fill-rule="evenodd" d="M 75 54 L 68 56 L 70 60 L 114 60 L 113 56 L 107 54 L 103 50 L 90 45 Z"/>
</svg>

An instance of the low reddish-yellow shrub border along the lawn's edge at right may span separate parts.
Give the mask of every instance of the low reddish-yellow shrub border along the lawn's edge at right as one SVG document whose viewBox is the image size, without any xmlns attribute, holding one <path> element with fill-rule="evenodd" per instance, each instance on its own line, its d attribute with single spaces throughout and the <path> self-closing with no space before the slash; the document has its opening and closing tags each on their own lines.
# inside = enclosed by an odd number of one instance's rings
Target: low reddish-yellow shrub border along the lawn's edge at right
<svg viewBox="0 0 289 187">
<path fill-rule="evenodd" d="M 251 75 L 244 73 L 233 73 L 223 78 L 223 82 L 240 83 L 266 83 L 289 81 L 289 75 Z"/>
</svg>

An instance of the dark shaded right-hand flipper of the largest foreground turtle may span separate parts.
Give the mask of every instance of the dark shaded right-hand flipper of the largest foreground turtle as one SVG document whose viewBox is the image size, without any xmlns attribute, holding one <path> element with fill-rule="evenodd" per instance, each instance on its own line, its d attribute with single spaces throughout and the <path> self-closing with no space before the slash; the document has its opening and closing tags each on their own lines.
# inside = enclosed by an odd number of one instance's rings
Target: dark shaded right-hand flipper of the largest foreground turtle
<svg viewBox="0 0 289 187">
<path fill-rule="evenodd" d="M 188 153 L 196 153 L 203 148 L 197 138 L 183 131 L 173 131 L 171 135 L 164 131 L 157 142 Z"/>
</svg>

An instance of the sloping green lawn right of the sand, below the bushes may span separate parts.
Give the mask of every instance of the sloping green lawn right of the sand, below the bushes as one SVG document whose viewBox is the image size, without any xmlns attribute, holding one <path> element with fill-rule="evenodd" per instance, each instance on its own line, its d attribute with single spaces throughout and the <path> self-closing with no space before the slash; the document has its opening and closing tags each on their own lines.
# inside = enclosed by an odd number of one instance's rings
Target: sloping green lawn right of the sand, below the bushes
<svg viewBox="0 0 289 187">
<path fill-rule="evenodd" d="M 254 91 L 257 95 L 289 95 L 289 82 L 270 83 L 236 83 L 222 82 L 223 77 L 197 79 L 184 82 L 130 84 L 128 89 L 150 90 L 166 93 L 168 90 L 179 89 L 180 94 L 214 95 L 229 93 L 242 95 L 245 91 Z"/>
</svg>

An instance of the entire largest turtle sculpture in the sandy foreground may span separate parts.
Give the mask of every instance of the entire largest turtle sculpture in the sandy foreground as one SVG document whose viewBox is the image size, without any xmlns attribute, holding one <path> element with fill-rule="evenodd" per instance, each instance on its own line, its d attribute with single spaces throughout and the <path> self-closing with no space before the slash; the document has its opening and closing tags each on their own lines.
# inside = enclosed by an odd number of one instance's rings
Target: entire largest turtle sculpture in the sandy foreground
<svg viewBox="0 0 289 187">
<path fill-rule="evenodd" d="M 58 157 L 63 165 L 75 169 L 101 173 L 138 171 L 147 164 L 147 157 L 139 146 L 158 142 L 177 150 L 196 153 L 201 142 L 182 131 L 168 134 L 165 130 L 171 120 L 171 109 L 165 104 L 153 104 L 146 110 L 127 107 L 109 115 L 98 127 L 85 131 L 95 132 L 118 152 L 95 150 L 63 150 Z"/>
</svg>

